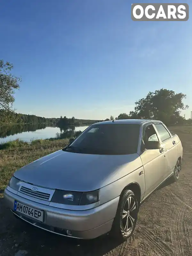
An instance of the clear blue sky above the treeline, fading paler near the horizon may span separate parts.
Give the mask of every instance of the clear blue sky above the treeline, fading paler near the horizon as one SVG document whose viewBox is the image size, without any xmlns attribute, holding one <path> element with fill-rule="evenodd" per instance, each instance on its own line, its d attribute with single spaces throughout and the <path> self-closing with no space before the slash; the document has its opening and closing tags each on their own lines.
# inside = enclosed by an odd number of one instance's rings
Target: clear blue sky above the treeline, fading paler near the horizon
<svg viewBox="0 0 192 256">
<path fill-rule="evenodd" d="M 131 3 L 142 2 L 1 0 L 0 59 L 22 77 L 17 112 L 105 119 L 166 88 L 187 94 L 189 118 L 191 20 L 132 21 Z"/>
</svg>

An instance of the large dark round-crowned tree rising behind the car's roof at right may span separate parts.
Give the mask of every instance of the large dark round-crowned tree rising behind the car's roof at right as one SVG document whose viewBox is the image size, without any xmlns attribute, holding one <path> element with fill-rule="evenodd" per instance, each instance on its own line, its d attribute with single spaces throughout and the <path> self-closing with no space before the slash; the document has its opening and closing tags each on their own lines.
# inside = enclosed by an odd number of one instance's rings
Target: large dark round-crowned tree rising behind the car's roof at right
<svg viewBox="0 0 192 256">
<path fill-rule="evenodd" d="M 135 102 L 134 111 L 131 111 L 129 116 L 161 120 L 167 125 L 182 122 L 181 110 L 188 108 L 188 105 L 185 106 L 183 103 L 185 98 L 186 94 L 167 89 L 149 92 L 145 98 Z"/>
</svg>

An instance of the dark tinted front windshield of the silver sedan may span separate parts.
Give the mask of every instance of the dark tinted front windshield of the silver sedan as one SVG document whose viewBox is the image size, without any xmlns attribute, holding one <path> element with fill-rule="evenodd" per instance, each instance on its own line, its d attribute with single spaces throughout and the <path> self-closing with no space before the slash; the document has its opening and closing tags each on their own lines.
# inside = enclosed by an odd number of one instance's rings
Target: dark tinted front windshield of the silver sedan
<svg viewBox="0 0 192 256">
<path fill-rule="evenodd" d="M 64 150 L 82 154 L 134 154 L 139 132 L 139 124 L 94 124 Z"/>
</svg>

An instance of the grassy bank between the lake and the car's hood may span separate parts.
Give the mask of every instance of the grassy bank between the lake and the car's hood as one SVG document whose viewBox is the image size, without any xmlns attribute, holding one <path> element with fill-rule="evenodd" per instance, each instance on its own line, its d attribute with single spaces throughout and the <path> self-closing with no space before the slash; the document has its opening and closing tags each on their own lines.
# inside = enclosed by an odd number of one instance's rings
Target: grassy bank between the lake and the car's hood
<svg viewBox="0 0 192 256">
<path fill-rule="evenodd" d="M 14 140 L 1 144 L 0 150 L 0 190 L 4 189 L 12 174 L 22 166 L 36 159 L 51 154 L 68 143 L 68 139 L 31 140 L 26 143 L 22 140 Z M 6 145 L 5 145 L 6 144 Z"/>
</svg>

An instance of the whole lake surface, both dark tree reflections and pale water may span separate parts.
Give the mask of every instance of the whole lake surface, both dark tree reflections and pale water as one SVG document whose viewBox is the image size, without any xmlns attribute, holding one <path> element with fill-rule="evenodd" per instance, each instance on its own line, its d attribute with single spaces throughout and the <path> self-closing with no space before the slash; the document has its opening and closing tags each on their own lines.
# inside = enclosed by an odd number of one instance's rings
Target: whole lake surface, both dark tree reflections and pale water
<svg viewBox="0 0 192 256">
<path fill-rule="evenodd" d="M 20 139 L 30 141 L 31 139 L 47 139 L 52 137 L 71 138 L 76 137 L 84 131 L 87 126 L 64 126 L 56 127 L 46 124 L 17 124 L 0 126 L 0 143 L 9 140 Z"/>
</svg>

